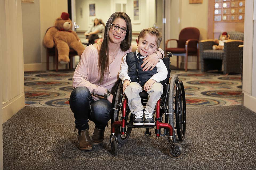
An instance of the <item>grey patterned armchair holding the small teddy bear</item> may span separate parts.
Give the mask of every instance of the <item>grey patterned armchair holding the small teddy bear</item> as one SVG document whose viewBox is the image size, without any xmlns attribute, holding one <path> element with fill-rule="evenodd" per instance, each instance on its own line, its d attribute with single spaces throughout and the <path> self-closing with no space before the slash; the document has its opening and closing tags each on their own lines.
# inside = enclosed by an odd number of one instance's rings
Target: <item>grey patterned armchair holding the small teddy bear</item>
<svg viewBox="0 0 256 170">
<path fill-rule="evenodd" d="M 243 44 L 243 32 L 227 32 L 230 39 L 224 43 L 223 50 L 213 50 L 214 40 L 199 41 L 199 53 L 202 72 L 221 70 L 223 74 L 240 73 L 239 45 Z"/>
</svg>

